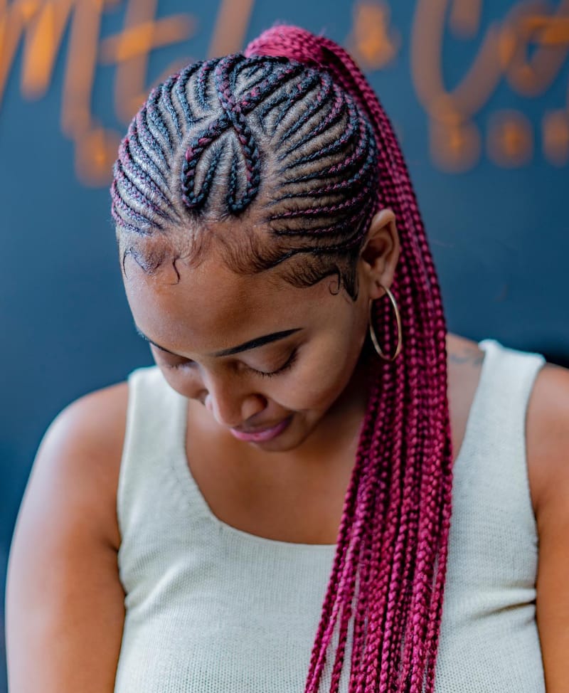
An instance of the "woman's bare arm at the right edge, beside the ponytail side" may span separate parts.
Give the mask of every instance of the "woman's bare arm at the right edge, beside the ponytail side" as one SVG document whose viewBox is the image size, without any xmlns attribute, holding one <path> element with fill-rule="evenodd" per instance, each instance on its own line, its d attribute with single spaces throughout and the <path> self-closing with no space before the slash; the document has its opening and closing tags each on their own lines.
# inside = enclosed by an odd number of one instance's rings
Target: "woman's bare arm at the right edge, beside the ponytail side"
<svg viewBox="0 0 569 693">
<path fill-rule="evenodd" d="M 537 621 L 547 693 L 569 676 L 569 370 L 545 366 L 528 408 L 528 470 L 539 535 Z"/>
</svg>

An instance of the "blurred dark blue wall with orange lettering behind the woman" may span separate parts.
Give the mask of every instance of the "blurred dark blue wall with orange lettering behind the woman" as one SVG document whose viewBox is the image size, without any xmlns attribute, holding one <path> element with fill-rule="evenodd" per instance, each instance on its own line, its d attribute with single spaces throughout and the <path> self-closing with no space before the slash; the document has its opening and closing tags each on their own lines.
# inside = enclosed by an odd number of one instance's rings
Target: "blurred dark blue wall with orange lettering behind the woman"
<svg viewBox="0 0 569 693">
<path fill-rule="evenodd" d="M 126 124 L 181 64 L 277 20 L 344 45 L 376 88 L 450 329 L 569 363 L 568 1 L 0 0 L 1 594 L 50 420 L 151 363 L 110 221 Z"/>
</svg>

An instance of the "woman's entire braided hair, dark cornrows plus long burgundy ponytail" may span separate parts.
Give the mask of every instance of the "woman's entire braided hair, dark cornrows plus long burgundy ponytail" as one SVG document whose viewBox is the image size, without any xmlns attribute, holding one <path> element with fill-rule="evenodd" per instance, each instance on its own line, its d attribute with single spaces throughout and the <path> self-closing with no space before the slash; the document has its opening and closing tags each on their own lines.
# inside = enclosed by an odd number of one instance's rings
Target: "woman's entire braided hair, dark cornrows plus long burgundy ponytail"
<svg viewBox="0 0 569 693">
<path fill-rule="evenodd" d="M 132 255 L 149 273 L 197 263 L 209 220 L 255 218 L 223 239 L 230 268 L 276 268 L 297 286 L 333 275 L 351 297 L 373 214 L 395 213 L 391 290 L 405 349 L 374 364 L 305 693 L 319 691 L 327 660 L 337 692 L 348 650 L 350 693 L 432 692 L 452 487 L 445 317 L 413 186 L 371 86 L 333 41 L 277 26 L 243 55 L 188 65 L 153 90 L 111 192 L 123 263 Z M 392 352 L 389 311 L 377 301 L 372 319 Z"/>
</svg>

